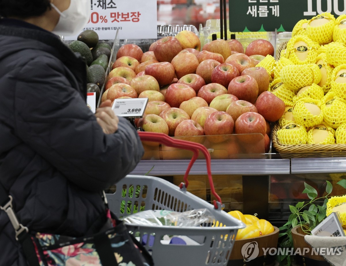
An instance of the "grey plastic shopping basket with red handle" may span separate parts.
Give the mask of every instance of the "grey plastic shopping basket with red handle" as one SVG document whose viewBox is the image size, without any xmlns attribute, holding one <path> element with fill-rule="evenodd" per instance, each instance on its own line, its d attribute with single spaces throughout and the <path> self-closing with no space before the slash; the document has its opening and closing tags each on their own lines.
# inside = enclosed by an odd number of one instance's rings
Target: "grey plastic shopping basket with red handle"
<svg viewBox="0 0 346 266">
<path fill-rule="evenodd" d="M 142 133 L 152 132 L 138 133 L 143 140 L 144 136 Z M 156 137 L 159 137 L 156 141 L 164 143 L 161 138 L 166 139 L 166 137 L 161 137 L 160 135 L 156 135 Z M 180 147 L 187 148 L 185 145 L 189 146 L 189 143 L 191 143 L 190 141 L 181 142 L 181 140 L 170 139 L 172 140 L 169 141 L 173 141 L 176 144 L 175 147 L 181 145 Z M 177 144 L 177 141 L 179 144 Z M 165 144 L 167 144 L 167 141 Z M 174 146 L 174 144 L 169 143 L 168 145 Z M 198 147 L 206 155 L 207 170 L 210 174 L 210 155 L 207 149 L 203 145 L 196 143 L 193 143 L 192 146 Z M 191 159 L 190 167 L 196 158 L 197 156 L 194 156 Z M 188 171 L 189 169 L 186 171 L 185 177 L 188 176 Z M 210 186 L 213 191 L 212 182 Z M 213 214 L 215 222 L 213 224 L 202 224 L 200 227 L 139 226 L 138 224 L 127 223 L 129 231 L 133 232 L 135 236 L 139 236 L 145 248 L 152 253 L 156 266 L 225 266 L 228 263 L 238 229 L 245 227 L 244 223 L 221 210 L 221 200 L 220 202 L 215 202 L 214 205 L 210 204 L 186 191 L 185 185 L 181 185 L 180 188 L 180 186 L 176 186 L 159 177 L 127 175 L 116 184 L 115 193 L 106 194 L 106 196 L 110 210 L 118 217 L 124 217 L 133 213 L 135 208 L 140 211 L 141 206 L 144 206 L 145 210 L 171 210 L 177 212 L 206 208 Z M 218 199 L 220 198 L 218 197 Z M 123 203 L 123 206 L 125 203 L 125 212 L 124 208 L 120 208 L 121 203 Z M 194 244 L 166 244 L 162 241 L 165 235 L 187 236 L 193 240 Z"/>
</svg>

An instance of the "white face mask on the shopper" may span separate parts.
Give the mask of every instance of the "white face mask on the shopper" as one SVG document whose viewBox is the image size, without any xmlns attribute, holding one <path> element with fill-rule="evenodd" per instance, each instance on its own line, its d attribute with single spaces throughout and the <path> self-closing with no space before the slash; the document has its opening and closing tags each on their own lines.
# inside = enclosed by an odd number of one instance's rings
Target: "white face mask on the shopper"
<svg viewBox="0 0 346 266">
<path fill-rule="evenodd" d="M 90 18 L 90 0 L 71 0 L 70 6 L 63 12 L 52 7 L 60 14 L 58 24 L 53 33 L 57 35 L 77 35 L 88 23 Z"/>
</svg>

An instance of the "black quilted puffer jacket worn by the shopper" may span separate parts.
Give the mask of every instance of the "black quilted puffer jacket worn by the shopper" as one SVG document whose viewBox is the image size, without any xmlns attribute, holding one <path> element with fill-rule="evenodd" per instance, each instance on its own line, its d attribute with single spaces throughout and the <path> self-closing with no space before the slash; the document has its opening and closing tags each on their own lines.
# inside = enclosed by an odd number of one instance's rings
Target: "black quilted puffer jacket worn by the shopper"
<svg viewBox="0 0 346 266">
<path fill-rule="evenodd" d="M 54 34 L 0 19 L 0 182 L 30 230 L 82 236 L 105 221 L 100 192 L 143 155 L 119 117 L 104 134 L 86 107 L 83 59 Z M 10 26 L 15 24 L 16 26 Z M 0 211 L 0 266 L 27 265 Z"/>
</svg>

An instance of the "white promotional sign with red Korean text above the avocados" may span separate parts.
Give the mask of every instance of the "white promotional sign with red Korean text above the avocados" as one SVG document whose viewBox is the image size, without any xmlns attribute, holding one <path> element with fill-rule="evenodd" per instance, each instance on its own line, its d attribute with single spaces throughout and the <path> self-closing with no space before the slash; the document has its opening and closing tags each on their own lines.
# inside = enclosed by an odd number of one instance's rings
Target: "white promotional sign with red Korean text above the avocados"
<svg viewBox="0 0 346 266">
<path fill-rule="evenodd" d="M 100 40 L 157 38 L 156 0 L 90 0 L 91 15 L 83 30 L 94 30 Z M 78 36 L 64 36 L 76 40 Z"/>
</svg>

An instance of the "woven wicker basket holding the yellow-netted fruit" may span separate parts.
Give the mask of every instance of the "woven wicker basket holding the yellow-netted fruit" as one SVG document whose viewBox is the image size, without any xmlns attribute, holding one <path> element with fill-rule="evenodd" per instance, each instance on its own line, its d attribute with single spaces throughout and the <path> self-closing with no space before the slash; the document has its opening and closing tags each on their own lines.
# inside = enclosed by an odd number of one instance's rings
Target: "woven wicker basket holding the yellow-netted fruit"
<svg viewBox="0 0 346 266">
<path fill-rule="evenodd" d="M 279 129 L 280 125 L 276 123 L 273 127 L 272 147 L 274 147 L 283 158 L 346 156 L 346 144 L 281 144 L 276 134 Z"/>
</svg>

